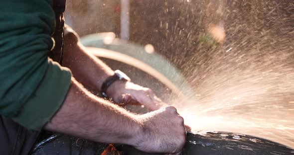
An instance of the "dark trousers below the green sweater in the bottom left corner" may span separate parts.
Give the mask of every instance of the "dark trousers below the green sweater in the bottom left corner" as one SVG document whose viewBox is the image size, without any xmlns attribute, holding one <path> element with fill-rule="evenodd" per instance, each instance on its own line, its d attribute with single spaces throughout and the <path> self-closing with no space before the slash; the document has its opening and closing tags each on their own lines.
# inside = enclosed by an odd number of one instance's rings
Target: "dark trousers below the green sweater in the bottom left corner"
<svg viewBox="0 0 294 155">
<path fill-rule="evenodd" d="M 39 132 L 0 116 L 0 155 L 28 155 L 38 136 Z"/>
</svg>

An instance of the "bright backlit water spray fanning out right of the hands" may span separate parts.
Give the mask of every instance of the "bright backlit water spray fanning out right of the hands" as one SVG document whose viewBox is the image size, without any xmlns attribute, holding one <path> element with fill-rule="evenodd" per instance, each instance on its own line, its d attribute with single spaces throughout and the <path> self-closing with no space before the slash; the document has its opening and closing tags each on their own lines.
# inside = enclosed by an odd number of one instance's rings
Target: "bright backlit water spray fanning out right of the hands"
<svg viewBox="0 0 294 155">
<path fill-rule="evenodd" d="M 195 100 L 181 114 L 195 132 L 252 135 L 294 148 L 293 1 L 231 2 L 223 9 L 219 0 L 223 20 L 207 24 L 206 40 L 202 35 L 182 63 Z"/>
</svg>

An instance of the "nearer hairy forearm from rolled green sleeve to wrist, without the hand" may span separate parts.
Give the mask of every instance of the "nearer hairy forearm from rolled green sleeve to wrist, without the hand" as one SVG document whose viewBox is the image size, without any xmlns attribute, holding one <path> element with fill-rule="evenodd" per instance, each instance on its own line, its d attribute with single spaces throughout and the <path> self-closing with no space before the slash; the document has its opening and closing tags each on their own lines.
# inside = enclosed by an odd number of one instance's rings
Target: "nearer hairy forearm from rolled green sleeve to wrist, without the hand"
<svg viewBox="0 0 294 155">
<path fill-rule="evenodd" d="M 62 107 L 45 129 L 96 142 L 132 145 L 142 123 L 136 115 L 92 95 L 72 79 Z"/>
</svg>

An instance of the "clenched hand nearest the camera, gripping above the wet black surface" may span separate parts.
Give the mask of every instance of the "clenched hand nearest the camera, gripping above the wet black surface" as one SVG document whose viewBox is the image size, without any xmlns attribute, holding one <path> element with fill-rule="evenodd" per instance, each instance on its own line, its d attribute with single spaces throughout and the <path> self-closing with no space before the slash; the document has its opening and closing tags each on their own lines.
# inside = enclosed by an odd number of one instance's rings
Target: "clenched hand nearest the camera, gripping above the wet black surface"
<svg viewBox="0 0 294 155">
<path fill-rule="evenodd" d="M 148 153 L 180 154 L 186 141 L 184 119 L 172 106 L 144 114 L 143 131 L 134 147 Z"/>
</svg>

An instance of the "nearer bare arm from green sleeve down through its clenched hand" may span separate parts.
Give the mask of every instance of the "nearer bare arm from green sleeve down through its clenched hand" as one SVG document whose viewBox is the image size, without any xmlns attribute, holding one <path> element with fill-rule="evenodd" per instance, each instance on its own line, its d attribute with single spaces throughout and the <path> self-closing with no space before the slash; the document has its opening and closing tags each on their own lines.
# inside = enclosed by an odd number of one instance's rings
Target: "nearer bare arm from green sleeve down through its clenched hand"
<svg viewBox="0 0 294 155">
<path fill-rule="evenodd" d="M 179 154 L 185 144 L 183 125 L 174 107 L 134 115 L 72 79 L 63 105 L 45 129 L 95 142 L 127 144 L 149 153 Z"/>
</svg>

